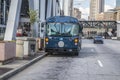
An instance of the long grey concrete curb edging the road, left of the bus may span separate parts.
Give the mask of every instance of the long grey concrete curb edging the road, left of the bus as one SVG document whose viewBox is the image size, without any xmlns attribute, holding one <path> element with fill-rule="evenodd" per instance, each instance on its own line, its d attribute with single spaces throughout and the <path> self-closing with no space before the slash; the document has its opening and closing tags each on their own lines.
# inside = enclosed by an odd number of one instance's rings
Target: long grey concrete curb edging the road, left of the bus
<svg viewBox="0 0 120 80">
<path fill-rule="evenodd" d="M 0 76 L 0 80 L 6 80 L 8 79 L 9 77 L 12 77 L 13 75 L 23 71 L 25 68 L 29 67 L 30 65 L 34 64 L 35 62 L 41 60 L 42 58 L 44 58 L 45 56 L 47 56 L 47 53 L 43 54 L 43 55 L 40 55 L 38 56 L 37 58 L 31 60 L 30 62 L 18 67 L 18 68 L 15 68 L 3 75 Z"/>
</svg>

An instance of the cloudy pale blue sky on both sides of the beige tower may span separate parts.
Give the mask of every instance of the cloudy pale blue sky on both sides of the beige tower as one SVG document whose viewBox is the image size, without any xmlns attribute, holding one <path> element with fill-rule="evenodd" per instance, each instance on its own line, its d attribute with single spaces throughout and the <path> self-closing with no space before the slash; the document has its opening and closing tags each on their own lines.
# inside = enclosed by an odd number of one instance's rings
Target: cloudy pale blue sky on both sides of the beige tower
<svg viewBox="0 0 120 80">
<path fill-rule="evenodd" d="M 115 8 L 116 0 L 105 0 L 105 11 Z M 74 7 L 82 11 L 82 18 L 88 19 L 90 0 L 74 0 Z"/>
</svg>

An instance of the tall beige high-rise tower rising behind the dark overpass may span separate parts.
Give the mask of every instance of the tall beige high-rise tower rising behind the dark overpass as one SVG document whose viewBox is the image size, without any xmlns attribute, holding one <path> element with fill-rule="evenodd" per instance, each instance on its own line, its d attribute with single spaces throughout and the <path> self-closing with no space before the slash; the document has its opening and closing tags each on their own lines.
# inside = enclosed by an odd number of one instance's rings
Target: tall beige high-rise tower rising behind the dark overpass
<svg viewBox="0 0 120 80">
<path fill-rule="evenodd" d="M 95 16 L 104 12 L 104 0 L 90 0 L 89 20 L 96 20 Z"/>
</svg>

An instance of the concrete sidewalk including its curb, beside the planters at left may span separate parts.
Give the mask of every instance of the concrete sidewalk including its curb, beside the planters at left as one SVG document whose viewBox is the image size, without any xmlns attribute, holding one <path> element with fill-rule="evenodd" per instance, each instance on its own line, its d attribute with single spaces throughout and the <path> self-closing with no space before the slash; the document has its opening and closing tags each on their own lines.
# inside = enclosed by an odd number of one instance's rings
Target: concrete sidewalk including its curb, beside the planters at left
<svg viewBox="0 0 120 80">
<path fill-rule="evenodd" d="M 24 70 L 25 68 L 29 67 L 33 63 L 39 61 L 43 57 L 45 57 L 47 53 L 44 51 L 41 51 L 39 53 L 36 53 L 35 56 L 23 59 L 23 60 L 14 60 L 13 62 L 6 64 L 6 65 L 0 65 L 1 69 L 5 69 L 8 71 L 3 71 L 4 74 L 0 75 L 0 80 L 6 80 L 9 77 L 19 73 L 20 71 Z"/>
</svg>

